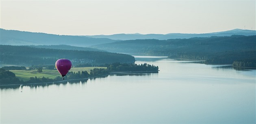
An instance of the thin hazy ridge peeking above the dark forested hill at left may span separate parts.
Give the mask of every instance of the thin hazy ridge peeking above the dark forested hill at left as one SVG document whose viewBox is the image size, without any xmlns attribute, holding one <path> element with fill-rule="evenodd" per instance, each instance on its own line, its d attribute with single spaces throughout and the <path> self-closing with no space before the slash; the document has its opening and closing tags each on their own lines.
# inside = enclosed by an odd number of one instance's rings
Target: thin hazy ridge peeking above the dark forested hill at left
<svg viewBox="0 0 256 124">
<path fill-rule="evenodd" d="M 67 50 L 82 50 L 82 51 L 104 51 L 100 49 L 95 49 L 91 47 L 75 47 L 70 45 L 29 45 L 35 48 L 49 48 L 49 49 L 67 49 Z M 106 52 L 106 51 L 104 51 Z"/>
</svg>

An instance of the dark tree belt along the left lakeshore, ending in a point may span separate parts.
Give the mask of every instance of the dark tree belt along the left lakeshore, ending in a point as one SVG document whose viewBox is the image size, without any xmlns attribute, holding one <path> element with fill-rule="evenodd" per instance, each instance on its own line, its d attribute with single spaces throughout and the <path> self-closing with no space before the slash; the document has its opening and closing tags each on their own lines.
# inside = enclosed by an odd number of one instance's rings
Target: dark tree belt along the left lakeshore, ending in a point
<svg viewBox="0 0 256 124">
<path fill-rule="evenodd" d="M 16 75 L 4 69 L 5 67 L 0 68 L 0 85 L 8 85 L 8 84 L 28 84 L 28 83 L 46 83 L 46 82 L 56 82 L 56 81 L 63 81 L 62 77 L 57 76 L 53 79 L 48 77 L 30 77 L 28 81 L 23 81 L 16 77 Z M 19 66 L 13 66 L 13 68 L 23 68 Z M 144 64 L 128 64 L 128 63 L 113 63 L 108 64 L 107 69 L 104 68 L 93 68 L 88 73 L 87 71 L 78 71 L 78 72 L 69 72 L 64 77 L 65 80 L 69 79 L 85 79 L 85 78 L 93 78 L 93 77 L 104 77 L 107 76 L 110 72 L 143 72 L 143 73 L 158 73 L 158 66 L 150 65 L 147 63 Z"/>
</svg>

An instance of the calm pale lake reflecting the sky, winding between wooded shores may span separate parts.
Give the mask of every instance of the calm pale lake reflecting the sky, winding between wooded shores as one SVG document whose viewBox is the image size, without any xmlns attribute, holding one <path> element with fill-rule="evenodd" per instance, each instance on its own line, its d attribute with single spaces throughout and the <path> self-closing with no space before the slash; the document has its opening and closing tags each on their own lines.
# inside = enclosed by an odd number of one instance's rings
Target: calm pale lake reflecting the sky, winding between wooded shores
<svg viewBox="0 0 256 124">
<path fill-rule="evenodd" d="M 1 124 L 256 123 L 255 70 L 135 59 L 159 66 L 159 73 L 1 88 Z"/>
</svg>

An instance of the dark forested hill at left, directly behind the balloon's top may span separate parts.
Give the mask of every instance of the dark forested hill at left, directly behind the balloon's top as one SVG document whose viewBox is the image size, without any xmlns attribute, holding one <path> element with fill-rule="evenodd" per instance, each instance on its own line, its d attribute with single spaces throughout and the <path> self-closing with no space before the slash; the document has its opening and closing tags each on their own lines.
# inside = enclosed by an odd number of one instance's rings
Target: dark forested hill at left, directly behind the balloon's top
<svg viewBox="0 0 256 124">
<path fill-rule="evenodd" d="M 46 49 L 12 45 L 0 45 L 0 50 L 1 64 L 55 64 L 56 60 L 60 58 L 70 59 L 73 64 L 105 64 L 115 62 L 135 62 L 135 58 L 130 55 L 101 51 Z"/>
</svg>

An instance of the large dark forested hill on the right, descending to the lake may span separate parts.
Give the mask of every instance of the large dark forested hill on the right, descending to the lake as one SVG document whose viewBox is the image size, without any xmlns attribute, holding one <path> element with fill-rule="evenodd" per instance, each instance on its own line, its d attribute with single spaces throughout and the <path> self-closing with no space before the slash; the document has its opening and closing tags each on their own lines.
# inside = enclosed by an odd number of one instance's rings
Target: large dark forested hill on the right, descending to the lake
<svg viewBox="0 0 256 124">
<path fill-rule="evenodd" d="M 256 36 L 212 36 L 169 40 L 129 40 L 95 45 L 94 48 L 120 53 L 207 60 L 210 64 L 232 64 L 235 60 L 256 58 Z"/>
</svg>

